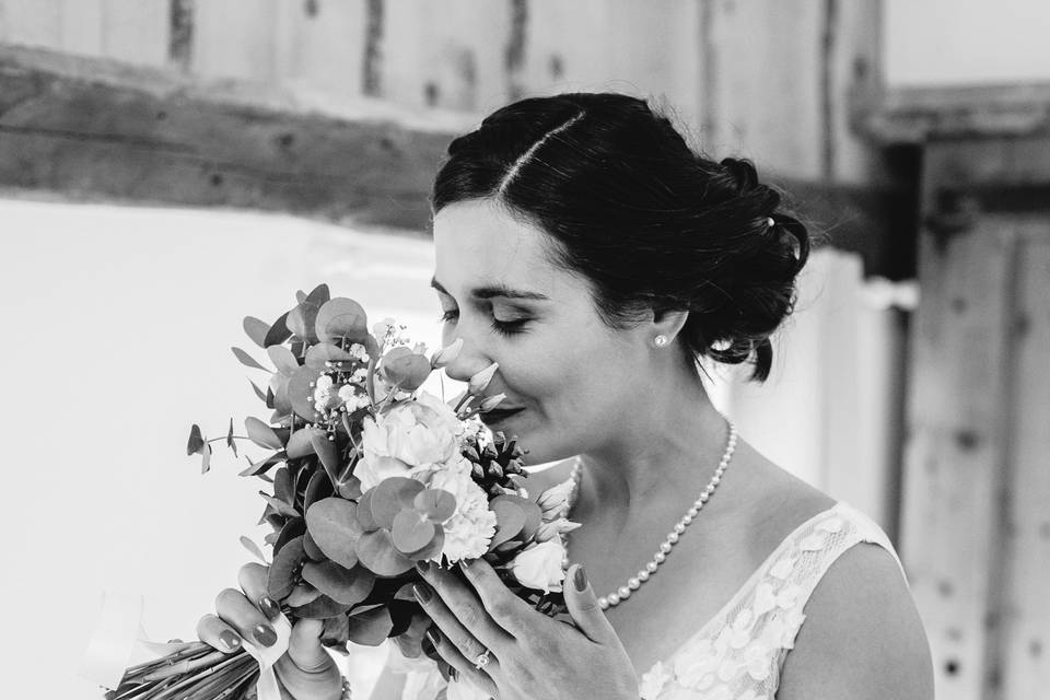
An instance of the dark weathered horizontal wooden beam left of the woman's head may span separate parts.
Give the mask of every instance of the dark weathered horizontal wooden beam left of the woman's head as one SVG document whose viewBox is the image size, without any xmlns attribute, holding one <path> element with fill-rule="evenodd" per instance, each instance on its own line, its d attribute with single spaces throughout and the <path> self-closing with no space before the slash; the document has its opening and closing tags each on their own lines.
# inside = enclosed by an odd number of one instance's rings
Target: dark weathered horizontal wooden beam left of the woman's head
<svg viewBox="0 0 1050 700">
<path fill-rule="evenodd" d="M 386 105 L 320 116 L 243 85 L 0 47 L 0 185 L 9 188 L 419 230 L 457 130 Z"/>
</svg>

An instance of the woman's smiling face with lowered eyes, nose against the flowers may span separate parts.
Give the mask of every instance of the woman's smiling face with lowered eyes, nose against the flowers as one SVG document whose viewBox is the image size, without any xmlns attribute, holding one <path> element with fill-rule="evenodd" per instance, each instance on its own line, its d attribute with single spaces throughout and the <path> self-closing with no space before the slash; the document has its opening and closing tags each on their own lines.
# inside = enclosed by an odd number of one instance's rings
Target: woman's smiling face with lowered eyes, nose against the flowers
<svg viewBox="0 0 1050 700">
<path fill-rule="evenodd" d="M 548 259 L 549 236 L 489 201 L 438 212 L 434 244 L 443 342 L 463 339 L 446 372 L 467 381 L 499 363 L 485 394 L 506 398 L 482 417 L 489 427 L 517 435 L 527 464 L 614 440 L 640 388 L 643 331 L 603 323 L 588 282 Z"/>
</svg>

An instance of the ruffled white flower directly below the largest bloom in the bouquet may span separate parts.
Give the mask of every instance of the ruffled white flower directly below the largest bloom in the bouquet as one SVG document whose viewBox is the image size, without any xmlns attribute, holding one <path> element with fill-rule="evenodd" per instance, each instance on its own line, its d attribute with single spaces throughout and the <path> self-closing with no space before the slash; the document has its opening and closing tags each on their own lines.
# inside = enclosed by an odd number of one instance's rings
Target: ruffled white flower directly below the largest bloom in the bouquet
<svg viewBox="0 0 1050 700">
<path fill-rule="evenodd" d="M 495 535 L 495 513 L 489 510 L 485 490 L 470 477 L 470 462 L 460 455 L 430 475 L 428 488 L 442 489 L 456 499 L 456 512 L 442 523 L 445 541 L 434 561 L 442 557 L 450 562 L 477 559 L 488 551 Z"/>
</svg>

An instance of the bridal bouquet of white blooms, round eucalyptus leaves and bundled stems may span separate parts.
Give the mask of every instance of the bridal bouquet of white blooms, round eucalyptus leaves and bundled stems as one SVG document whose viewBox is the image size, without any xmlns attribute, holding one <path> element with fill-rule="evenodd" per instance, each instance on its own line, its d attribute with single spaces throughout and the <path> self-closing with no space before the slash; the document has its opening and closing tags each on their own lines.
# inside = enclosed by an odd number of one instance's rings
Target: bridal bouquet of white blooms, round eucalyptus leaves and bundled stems
<svg viewBox="0 0 1050 700">
<path fill-rule="evenodd" d="M 247 418 L 241 436 L 231 420 L 224 441 L 234 456 L 238 440 L 267 451 L 245 457 L 241 475 L 267 485 L 259 494 L 260 522 L 272 529 L 269 557 L 241 539 L 268 564 L 285 638 L 288 618 L 324 620 L 322 642 L 341 653 L 348 642 L 398 638 L 422 615 L 411 586 L 415 564 L 424 560 L 448 565 L 483 557 L 537 610 L 564 612 L 561 535 L 578 525 L 561 517 L 565 485 L 529 500 L 524 451 L 502 433 L 489 435 L 478 419 L 503 398 L 485 394 L 494 363 L 445 402 L 420 387 L 455 359 L 462 341 L 428 358 L 404 326 L 384 319 L 370 328 L 360 304 L 330 299 L 325 284 L 299 292 L 272 325 L 246 317 L 244 329 L 276 366 L 233 348 L 243 364 L 272 372 L 265 392 L 252 383 L 272 413 Z M 212 442 L 192 425 L 187 453 L 200 456 L 205 472 Z M 128 668 L 106 698 L 238 700 L 262 689 L 267 663 L 257 651 L 225 654 L 200 642 L 167 649 Z M 424 642 L 421 651 L 447 679 L 433 649 Z"/>
</svg>

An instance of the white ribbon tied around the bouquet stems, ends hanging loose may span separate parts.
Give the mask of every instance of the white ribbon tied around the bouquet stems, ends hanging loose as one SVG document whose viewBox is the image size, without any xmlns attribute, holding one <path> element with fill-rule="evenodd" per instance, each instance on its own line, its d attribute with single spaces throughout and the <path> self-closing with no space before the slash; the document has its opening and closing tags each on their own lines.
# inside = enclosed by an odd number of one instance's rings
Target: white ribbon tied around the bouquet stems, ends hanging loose
<svg viewBox="0 0 1050 700">
<path fill-rule="evenodd" d="M 103 596 L 102 615 L 84 652 L 80 675 L 103 688 L 116 688 L 132 658 L 159 658 L 184 649 L 185 642 L 153 642 L 142 629 L 142 596 L 107 593 Z M 272 646 L 257 646 L 247 640 L 244 651 L 259 663 L 256 685 L 258 700 L 281 700 L 273 664 L 288 651 L 292 625 L 284 615 L 270 620 L 277 632 Z"/>
</svg>

